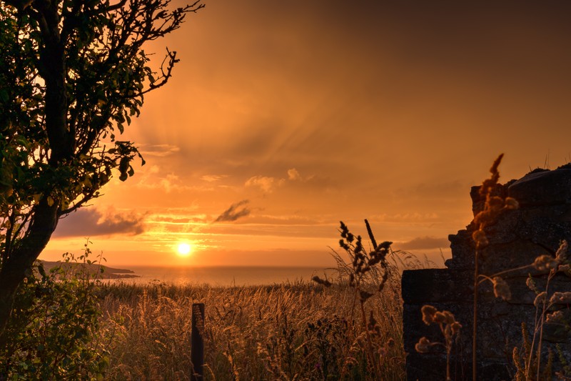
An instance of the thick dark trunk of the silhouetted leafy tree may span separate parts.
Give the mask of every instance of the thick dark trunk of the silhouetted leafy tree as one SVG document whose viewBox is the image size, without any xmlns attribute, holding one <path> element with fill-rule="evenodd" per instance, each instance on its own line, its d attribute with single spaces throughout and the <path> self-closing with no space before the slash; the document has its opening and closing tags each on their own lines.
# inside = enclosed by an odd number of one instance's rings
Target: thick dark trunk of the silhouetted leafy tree
<svg viewBox="0 0 571 381">
<path fill-rule="evenodd" d="M 46 83 L 45 128 L 51 155 L 48 164 L 56 169 L 74 157 L 74 134 L 67 127 L 68 99 L 66 94 L 65 41 L 61 41 L 59 1 L 34 2 L 32 14 L 41 30 L 39 49 L 39 74 Z M 53 197 L 51 205 L 44 193 L 34 209 L 26 234 L 6 258 L 0 269 L 0 350 L 6 347 L 6 326 L 14 307 L 14 296 L 21 282 L 31 273 L 34 261 L 39 257 L 59 219 L 60 200 Z"/>
</svg>

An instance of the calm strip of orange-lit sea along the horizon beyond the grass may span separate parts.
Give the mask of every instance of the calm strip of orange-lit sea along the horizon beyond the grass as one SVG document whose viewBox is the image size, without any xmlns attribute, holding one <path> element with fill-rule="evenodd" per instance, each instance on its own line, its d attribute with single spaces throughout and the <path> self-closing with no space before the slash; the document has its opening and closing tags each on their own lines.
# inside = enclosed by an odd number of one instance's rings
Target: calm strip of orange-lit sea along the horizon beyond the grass
<svg viewBox="0 0 571 381">
<path fill-rule="evenodd" d="M 149 267 L 129 266 L 128 277 L 104 279 L 105 282 L 134 284 L 209 284 L 211 286 L 254 286 L 281 283 L 309 282 L 318 277 L 333 277 L 334 269 L 318 267 Z"/>
</svg>

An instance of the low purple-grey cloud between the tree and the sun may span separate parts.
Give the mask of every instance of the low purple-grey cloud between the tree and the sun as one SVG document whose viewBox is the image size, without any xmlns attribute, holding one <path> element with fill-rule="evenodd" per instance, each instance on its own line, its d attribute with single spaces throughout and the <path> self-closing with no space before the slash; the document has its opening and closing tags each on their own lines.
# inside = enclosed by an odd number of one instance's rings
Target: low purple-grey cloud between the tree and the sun
<svg viewBox="0 0 571 381">
<path fill-rule="evenodd" d="M 95 237 L 101 235 L 130 234 L 144 232 L 144 217 L 140 214 L 110 212 L 103 214 L 97 209 L 79 209 L 61 219 L 54 237 Z"/>
</svg>

